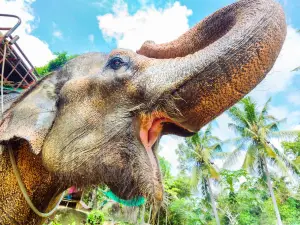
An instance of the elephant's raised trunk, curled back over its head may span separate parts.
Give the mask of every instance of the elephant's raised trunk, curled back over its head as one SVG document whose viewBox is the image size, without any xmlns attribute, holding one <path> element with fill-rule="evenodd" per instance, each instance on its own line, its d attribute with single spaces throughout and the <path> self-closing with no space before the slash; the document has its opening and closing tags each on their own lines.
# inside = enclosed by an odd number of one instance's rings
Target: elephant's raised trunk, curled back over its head
<svg viewBox="0 0 300 225">
<path fill-rule="evenodd" d="M 186 121 L 181 124 L 196 131 L 265 77 L 285 36 L 285 17 L 278 3 L 241 0 L 175 41 L 145 42 L 137 51 L 148 57 L 145 77 L 140 79 L 146 81 L 152 101 L 162 95 L 179 97 L 175 104 Z"/>
</svg>

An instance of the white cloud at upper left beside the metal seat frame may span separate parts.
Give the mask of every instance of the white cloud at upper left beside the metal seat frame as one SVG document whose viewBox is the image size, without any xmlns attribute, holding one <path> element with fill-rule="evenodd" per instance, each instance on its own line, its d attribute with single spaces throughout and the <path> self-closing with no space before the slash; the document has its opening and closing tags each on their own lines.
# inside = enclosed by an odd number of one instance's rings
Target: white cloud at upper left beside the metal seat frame
<svg viewBox="0 0 300 225">
<path fill-rule="evenodd" d="M 22 19 L 21 26 L 13 34 L 20 36 L 18 44 L 33 65 L 42 66 L 53 59 L 54 55 L 46 42 L 31 34 L 36 27 L 36 20 L 31 8 L 33 2 L 34 0 L 0 0 L 0 13 L 17 15 Z M 0 23 L 3 26 L 11 27 L 15 24 L 15 20 L 6 20 L 1 17 Z"/>
</svg>

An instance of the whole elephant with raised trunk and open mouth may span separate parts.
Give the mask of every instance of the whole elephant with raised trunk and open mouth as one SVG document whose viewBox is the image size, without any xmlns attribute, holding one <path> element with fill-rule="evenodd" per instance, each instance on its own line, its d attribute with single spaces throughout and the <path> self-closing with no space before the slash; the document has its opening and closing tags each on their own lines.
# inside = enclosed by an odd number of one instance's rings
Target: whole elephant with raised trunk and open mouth
<svg viewBox="0 0 300 225">
<path fill-rule="evenodd" d="M 160 205 L 160 138 L 191 136 L 247 95 L 285 36 L 280 4 L 240 0 L 169 43 L 86 53 L 39 80 L 0 123 L 0 223 L 42 221 L 24 200 L 9 150 L 40 211 L 74 185 L 106 184 L 122 199 Z"/>
</svg>

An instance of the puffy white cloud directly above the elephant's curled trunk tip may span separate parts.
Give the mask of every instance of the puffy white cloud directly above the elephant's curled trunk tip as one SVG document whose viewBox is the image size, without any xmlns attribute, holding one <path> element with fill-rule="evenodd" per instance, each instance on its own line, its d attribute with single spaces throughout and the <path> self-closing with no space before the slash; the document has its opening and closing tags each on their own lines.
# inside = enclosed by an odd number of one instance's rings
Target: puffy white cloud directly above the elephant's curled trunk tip
<svg viewBox="0 0 300 225">
<path fill-rule="evenodd" d="M 146 4 L 146 1 L 142 1 Z M 137 50 L 146 40 L 156 43 L 171 41 L 188 30 L 192 11 L 175 2 L 165 9 L 143 7 L 130 15 L 128 5 L 118 0 L 113 13 L 98 16 L 99 28 L 107 41 L 116 40 L 118 47 Z"/>
</svg>

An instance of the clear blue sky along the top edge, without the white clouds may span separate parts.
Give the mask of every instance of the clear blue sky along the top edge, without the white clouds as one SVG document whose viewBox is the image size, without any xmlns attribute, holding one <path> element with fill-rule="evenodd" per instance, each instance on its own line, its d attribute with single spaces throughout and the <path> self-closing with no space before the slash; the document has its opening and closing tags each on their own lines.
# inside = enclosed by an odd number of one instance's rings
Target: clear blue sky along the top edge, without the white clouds
<svg viewBox="0 0 300 225">
<path fill-rule="evenodd" d="M 66 50 L 71 54 L 86 51 L 109 52 L 117 47 L 116 42 L 106 42 L 103 32 L 99 29 L 97 16 L 113 13 L 113 6 L 118 1 L 112 0 L 37 0 L 31 4 L 38 27 L 32 34 L 46 41 L 53 52 Z M 146 7 L 166 9 L 176 1 L 138 1 L 128 0 L 128 12 L 133 15 Z M 205 16 L 217 9 L 234 2 L 233 0 L 182 0 L 178 1 L 182 6 L 192 10 L 188 16 L 188 25 L 195 25 Z M 145 7 L 146 5 L 146 7 Z M 289 0 L 284 4 L 287 21 L 294 27 L 300 27 L 300 2 Z M 174 26 L 174 24 L 170 24 Z M 299 28 L 300 29 L 300 28 Z M 53 31 L 60 31 L 62 38 L 54 38 Z M 94 42 L 88 42 L 88 35 L 94 35 Z"/>
</svg>

